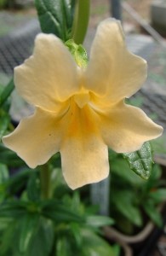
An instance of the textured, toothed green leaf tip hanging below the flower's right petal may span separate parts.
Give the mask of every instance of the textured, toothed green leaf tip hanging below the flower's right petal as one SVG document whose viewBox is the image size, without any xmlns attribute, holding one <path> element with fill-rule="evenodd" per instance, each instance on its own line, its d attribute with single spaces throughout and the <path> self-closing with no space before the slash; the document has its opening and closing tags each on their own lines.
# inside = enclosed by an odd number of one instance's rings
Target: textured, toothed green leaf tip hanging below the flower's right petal
<svg viewBox="0 0 166 256">
<path fill-rule="evenodd" d="M 148 179 L 152 172 L 152 147 L 150 143 L 144 143 L 140 150 L 123 154 L 132 171 L 144 179 Z"/>
</svg>

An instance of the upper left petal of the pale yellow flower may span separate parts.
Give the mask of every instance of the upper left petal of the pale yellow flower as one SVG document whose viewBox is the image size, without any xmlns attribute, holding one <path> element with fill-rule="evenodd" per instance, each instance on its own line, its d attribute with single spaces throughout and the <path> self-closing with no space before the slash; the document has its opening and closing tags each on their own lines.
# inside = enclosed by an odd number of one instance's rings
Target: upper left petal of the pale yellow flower
<svg viewBox="0 0 166 256">
<path fill-rule="evenodd" d="M 14 69 L 16 89 L 26 102 L 54 111 L 78 90 L 77 65 L 52 34 L 39 34 L 33 55 Z"/>
</svg>

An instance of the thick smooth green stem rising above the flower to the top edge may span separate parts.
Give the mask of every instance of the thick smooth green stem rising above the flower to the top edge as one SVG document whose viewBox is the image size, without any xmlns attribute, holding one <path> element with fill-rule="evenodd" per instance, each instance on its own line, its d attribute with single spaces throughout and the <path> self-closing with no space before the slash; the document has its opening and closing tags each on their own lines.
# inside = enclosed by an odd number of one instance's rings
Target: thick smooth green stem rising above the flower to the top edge
<svg viewBox="0 0 166 256">
<path fill-rule="evenodd" d="M 89 0 L 77 0 L 72 26 L 72 39 L 76 44 L 83 44 L 87 28 L 89 25 Z"/>
</svg>

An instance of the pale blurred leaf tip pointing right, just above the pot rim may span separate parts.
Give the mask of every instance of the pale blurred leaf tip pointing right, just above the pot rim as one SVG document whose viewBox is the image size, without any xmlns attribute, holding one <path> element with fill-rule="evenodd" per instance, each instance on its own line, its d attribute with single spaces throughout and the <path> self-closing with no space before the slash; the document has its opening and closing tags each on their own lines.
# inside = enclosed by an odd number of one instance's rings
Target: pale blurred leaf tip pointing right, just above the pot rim
<svg viewBox="0 0 166 256">
<path fill-rule="evenodd" d="M 86 217 L 86 224 L 88 224 L 91 227 L 103 227 L 106 225 L 112 225 L 114 224 L 114 221 L 112 218 L 106 217 L 106 216 L 87 216 Z"/>
</svg>

